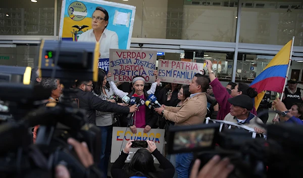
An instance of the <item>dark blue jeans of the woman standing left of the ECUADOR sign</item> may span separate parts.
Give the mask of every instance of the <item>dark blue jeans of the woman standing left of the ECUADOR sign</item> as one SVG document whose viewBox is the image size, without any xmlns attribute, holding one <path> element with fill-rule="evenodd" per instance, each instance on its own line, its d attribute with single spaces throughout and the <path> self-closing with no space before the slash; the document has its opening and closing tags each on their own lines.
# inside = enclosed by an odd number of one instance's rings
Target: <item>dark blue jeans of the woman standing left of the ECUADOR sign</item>
<svg viewBox="0 0 303 178">
<path fill-rule="evenodd" d="M 110 161 L 110 155 L 112 151 L 112 137 L 113 137 L 113 125 L 111 126 L 98 126 L 101 130 L 101 154 L 98 168 L 104 173 L 104 177 L 107 177 L 108 165 Z"/>
</svg>

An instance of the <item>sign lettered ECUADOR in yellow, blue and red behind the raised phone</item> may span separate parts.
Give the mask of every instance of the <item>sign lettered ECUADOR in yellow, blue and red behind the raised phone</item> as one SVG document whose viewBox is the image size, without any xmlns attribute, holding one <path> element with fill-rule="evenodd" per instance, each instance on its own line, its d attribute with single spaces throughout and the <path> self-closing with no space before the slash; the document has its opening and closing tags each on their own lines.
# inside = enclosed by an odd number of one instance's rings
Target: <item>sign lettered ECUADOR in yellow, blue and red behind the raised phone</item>
<svg viewBox="0 0 303 178">
<path fill-rule="evenodd" d="M 164 129 L 150 129 L 148 133 L 143 133 L 144 129 L 137 128 L 137 134 L 133 134 L 130 128 L 114 127 L 113 138 L 112 138 L 112 154 L 111 163 L 118 159 L 120 152 L 125 148 L 126 143 L 129 140 L 145 141 L 150 140 L 155 142 L 157 149 L 162 153 L 164 146 Z M 121 147 L 122 145 L 122 147 Z M 130 162 L 136 151 L 140 148 L 131 148 L 128 157 L 125 162 Z M 154 162 L 159 164 L 159 161 L 153 156 Z"/>
</svg>

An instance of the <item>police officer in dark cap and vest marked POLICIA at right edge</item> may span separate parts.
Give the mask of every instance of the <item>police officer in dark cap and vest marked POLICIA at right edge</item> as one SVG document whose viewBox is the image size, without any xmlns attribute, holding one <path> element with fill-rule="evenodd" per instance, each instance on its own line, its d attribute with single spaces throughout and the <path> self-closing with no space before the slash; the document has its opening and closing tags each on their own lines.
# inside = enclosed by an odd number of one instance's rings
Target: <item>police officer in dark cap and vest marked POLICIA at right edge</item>
<svg viewBox="0 0 303 178">
<path fill-rule="evenodd" d="M 297 88 L 295 79 L 288 80 L 288 88 L 285 88 L 282 102 L 287 109 L 290 109 L 293 103 L 303 103 L 303 92 Z"/>
</svg>

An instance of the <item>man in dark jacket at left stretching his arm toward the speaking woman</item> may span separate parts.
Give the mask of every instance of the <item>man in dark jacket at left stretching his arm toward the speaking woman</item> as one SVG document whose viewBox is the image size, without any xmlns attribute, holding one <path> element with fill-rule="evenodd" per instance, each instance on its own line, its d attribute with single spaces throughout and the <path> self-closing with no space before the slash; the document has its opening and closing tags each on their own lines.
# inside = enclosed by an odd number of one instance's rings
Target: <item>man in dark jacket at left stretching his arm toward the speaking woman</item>
<svg viewBox="0 0 303 178">
<path fill-rule="evenodd" d="M 95 96 L 92 92 L 92 81 L 77 81 L 76 93 L 73 98 L 78 99 L 79 108 L 87 111 L 87 120 L 90 124 L 95 124 L 96 110 L 103 112 L 118 112 L 129 113 L 135 112 L 138 107 L 132 105 L 131 107 L 120 106 L 116 103 L 108 102 Z"/>
</svg>

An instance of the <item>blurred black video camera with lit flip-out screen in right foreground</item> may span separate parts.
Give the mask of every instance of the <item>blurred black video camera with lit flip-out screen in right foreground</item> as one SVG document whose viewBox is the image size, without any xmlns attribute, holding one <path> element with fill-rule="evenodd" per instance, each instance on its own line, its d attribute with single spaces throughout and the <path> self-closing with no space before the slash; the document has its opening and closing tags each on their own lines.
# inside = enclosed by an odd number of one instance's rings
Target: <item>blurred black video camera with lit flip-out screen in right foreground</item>
<svg viewBox="0 0 303 178">
<path fill-rule="evenodd" d="M 263 126 L 265 127 L 265 126 Z M 267 139 L 242 129 L 219 132 L 220 124 L 169 128 L 168 153 L 193 152 L 202 168 L 214 155 L 228 157 L 229 177 L 303 177 L 303 127 L 267 125 Z"/>
</svg>

